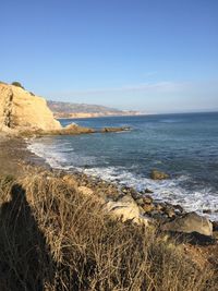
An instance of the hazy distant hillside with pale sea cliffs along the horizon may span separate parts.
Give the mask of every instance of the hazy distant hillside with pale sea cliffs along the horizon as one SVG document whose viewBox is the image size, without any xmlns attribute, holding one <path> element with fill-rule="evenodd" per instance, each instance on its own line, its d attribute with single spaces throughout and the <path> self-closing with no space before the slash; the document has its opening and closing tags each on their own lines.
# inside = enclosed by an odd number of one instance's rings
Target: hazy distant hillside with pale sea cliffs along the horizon
<svg viewBox="0 0 218 291">
<path fill-rule="evenodd" d="M 48 101 L 56 118 L 92 118 L 110 116 L 137 116 L 137 111 L 122 111 L 99 105 Z"/>
</svg>

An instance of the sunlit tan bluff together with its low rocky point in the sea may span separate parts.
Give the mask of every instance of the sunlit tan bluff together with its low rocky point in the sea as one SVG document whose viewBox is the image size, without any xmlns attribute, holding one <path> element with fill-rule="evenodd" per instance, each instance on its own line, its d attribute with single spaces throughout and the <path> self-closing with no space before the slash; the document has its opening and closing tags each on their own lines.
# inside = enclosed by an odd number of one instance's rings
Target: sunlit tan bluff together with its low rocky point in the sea
<svg viewBox="0 0 218 291">
<path fill-rule="evenodd" d="M 0 82 L 0 132 L 19 136 L 43 136 L 130 130 L 130 128 L 94 130 L 76 123 L 62 128 L 48 107 L 46 99 L 25 90 L 20 83 L 17 84 L 9 85 Z"/>
</svg>

